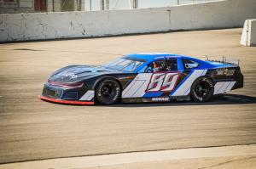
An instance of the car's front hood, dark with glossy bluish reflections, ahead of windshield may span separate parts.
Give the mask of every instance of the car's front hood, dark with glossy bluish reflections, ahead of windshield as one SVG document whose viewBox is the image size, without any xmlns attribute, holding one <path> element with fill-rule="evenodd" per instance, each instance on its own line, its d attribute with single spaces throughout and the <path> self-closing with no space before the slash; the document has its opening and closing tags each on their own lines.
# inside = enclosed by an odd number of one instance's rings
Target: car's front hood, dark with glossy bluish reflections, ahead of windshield
<svg viewBox="0 0 256 169">
<path fill-rule="evenodd" d="M 93 76 L 99 76 L 113 71 L 116 70 L 103 66 L 70 65 L 61 70 L 56 70 L 49 77 L 49 80 L 52 82 L 79 82 Z"/>
</svg>

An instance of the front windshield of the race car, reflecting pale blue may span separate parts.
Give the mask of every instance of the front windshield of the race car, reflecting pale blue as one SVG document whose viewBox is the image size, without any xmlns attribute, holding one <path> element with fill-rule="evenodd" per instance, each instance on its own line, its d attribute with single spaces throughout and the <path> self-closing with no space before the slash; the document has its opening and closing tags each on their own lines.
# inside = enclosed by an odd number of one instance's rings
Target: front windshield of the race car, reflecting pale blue
<svg viewBox="0 0 256 169">
<path fill-rule="evenodd" d="M 104 66 L 115 70 L 134 71 L 143 63 L 144 61 L 141 59 L 120 58 Z"/>
</svg>

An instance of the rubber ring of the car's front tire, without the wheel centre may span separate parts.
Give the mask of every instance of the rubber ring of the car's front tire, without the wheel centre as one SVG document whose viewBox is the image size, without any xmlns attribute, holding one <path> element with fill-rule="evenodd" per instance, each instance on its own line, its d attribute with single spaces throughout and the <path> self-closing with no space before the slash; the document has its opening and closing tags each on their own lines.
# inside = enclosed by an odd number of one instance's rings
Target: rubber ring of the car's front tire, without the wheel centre
<svg viewBox="0 0 256 169">
<path fill-rule="evenodd" d="M 114 95 L 113 99 L 111 99 L 111 100 L 102 99 L 102 93 L 101 93 L 102 87 L 108 82 L 113 82 L 116 86 L 115 87 L 115 95 Z M 96 102 L 99 104 L 105 104 L 105 105 L 115 104 L 119 101 L 120 96 L 121 96 L 121 87 L 119 85 L 119 82 L 117 82 L 116 80 L 114 80 L 112 78 L 103 79 L 96 86 Z"/>
</svg>

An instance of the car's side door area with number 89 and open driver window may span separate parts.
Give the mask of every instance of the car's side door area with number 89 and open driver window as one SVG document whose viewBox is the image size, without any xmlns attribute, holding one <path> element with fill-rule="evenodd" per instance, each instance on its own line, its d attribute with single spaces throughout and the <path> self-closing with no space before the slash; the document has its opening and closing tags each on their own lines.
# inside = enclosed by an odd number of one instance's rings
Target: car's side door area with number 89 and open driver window
<svg viewBox="0 0 256 169">
<path fill-rule="evenodd" d="M 155 69 L 155 63 L 153 62 L 146 65 L 135 79 L 125 87 L 122 98 L 165 97 L 169 99 L 168 96 L 177 87 L 182 71 L 177 68 L 177 59 L 161 59 L 158 61 L 161 63 L 161 68 Z"/>
</svg>

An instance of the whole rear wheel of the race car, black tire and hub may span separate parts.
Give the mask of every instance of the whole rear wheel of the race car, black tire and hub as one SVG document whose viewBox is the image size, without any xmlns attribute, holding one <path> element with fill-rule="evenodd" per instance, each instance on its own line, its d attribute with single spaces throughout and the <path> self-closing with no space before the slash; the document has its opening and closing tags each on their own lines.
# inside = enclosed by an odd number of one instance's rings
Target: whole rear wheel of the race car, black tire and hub
<svg viewBox="0 0 256 169">
<path fill-rule="evenodd" d="M 212 98 L 214 93 L 214 84 L 207 76 L 201 76 L 193 82 L 190 96 L 196 102 L 206 102 Z"/>
</svg>

